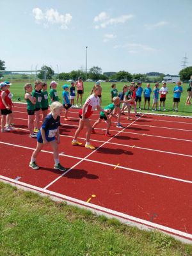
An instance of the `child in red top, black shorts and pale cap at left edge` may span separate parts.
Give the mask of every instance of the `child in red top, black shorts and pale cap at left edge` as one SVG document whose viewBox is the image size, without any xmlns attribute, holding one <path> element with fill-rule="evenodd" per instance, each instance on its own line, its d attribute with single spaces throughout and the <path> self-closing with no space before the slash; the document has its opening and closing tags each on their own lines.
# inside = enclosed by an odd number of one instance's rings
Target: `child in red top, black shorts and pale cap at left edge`
<svg viewBox="0 0 192 256">
<path fill-rule="evenodd" d="M 9 105 L 8 95 L 6 94 L 8 86 L 3 82 L 0 84 L 0 88 L 1 132 L 9 132 L 10 123 L 8 124 L 9 127 L 4 128 L 6 124 L 6 116 L 10 115 L 9 122 L 12 121 L 13 116 L 11 106 Z"/>
</svg>

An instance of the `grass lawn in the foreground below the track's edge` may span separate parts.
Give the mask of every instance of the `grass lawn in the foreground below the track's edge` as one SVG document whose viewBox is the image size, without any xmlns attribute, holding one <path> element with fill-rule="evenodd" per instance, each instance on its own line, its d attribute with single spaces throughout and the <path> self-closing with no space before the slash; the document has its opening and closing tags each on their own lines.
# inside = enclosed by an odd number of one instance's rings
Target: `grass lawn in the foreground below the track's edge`
<svg viewBox="0 0 192 256">
<path fill-rule="evenodd" d="M 0 182 L 1 256 L 192 255 L 192 246 Z"/>
</svg>

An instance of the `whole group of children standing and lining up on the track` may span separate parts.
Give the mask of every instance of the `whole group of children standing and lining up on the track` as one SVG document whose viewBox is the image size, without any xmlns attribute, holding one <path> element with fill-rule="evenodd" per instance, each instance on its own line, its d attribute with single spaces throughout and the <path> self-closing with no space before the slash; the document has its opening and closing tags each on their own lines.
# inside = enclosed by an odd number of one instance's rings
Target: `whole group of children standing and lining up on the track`
<svg viewBox="0 0 192 256">
<path fill-rule="evenodd" d="M 78 80 L 77 83 L 81 83 Z M 49 92 L 49 96 L 51 99 L 50 110 L 51 113 L 47 115 L 47 111 L 49 108 L 49 100 L 48 100 L 48 92 L 47 92 L 47 83 L 42 83 L 41 81 L 35 81 L 35 89 L 33 90 L 32 85 L 27 83 L 24 86 L 25 96 L 24 99 L 27 102 L 27 112 L 28 112 L 28 127 L 29 127 L 29 137 L 36 138 L 37 145 L 36 149 L 31 156 L 31 161 L 29 163 L 29 167 L 33 169 L 38 169 L 39 166 L 36 164 L 36 157 L 39 152 L 44 147 L 44 144 L 50 143 L 54 152 L 54 168 L 57 170 L 65 171 L 65 167 L 60 164 L 59 156 L 58 156 L 58 144 L 60 143 L 60 116 L 65 108 L 65 118 L 64 120 L 69 120 L 67 118 L 68 109 L 72 106 L 72 102 L 68 92 L 68 85 L 63 85 L 63 104 L 59 102 L 58 93 L 56 92 L 56 87 L 58 83 L 56 81 L 52 81 L 50 84 L 51 90 Z M 176 106 L 176 110 L 178 109 L 180 93 L 182 93 L 182 86 L 180 86 L 180 81 L 175 86 L 173 92 L 173 108 Z M 10 83 L 8 81 L 4 81 L 0 84 L 0 109 L 1 109 L 1 132 L 10 131 L 12 129 L 11 122 L 13 118 L 12 114 L 12 93 L 8 90 Z M 70 88 L 70 92 L 74 93 L 74 86 L 79 86 L 76 83 L 72 84 Z M 81 83 L 82 86 L 82 83 Z M 105 136 L 111 136 L 109 129 L 111 127 L 111 118 L 115 118 L 117 121 L 116 127 L 124 128 L 120 124 L 120 116 L 125 115 L 124 111 L 127 108 L 127 119 L 131 120 L 130 112 L 131 107 L 134 109 L 134 115 L 140 116 L 137 113 L 136 106 L 139 103 L 139 108 L 141 108 L 141 95 L 143 92 L 145 98 L 145 105 L 148 101 L 148 108 L 150 107 L 150 95 L 152 90 L 150 89 L 150 84 L 147 84 L 147 88 L 143 91 L 141 87 L 141 83 L 138 83 L 136 86 L 134 83 L 131 83 L 130 86 L 124 85 L 121 93 L 118 94 L 118 90 L 116 89 L 116 85 L 112 84 L 111 90 L 111 104 L 106 106 L 105 108 L 100 107 L 100 98 L 102 94 L 102 87 L 100 83 L 97 82 L 93 86 L 93 90 L 91 95 L 86 99 L 83 108 L 79 110 L 79 127 L 76 130 L 74 135 L 74 139 L 72 140 L 72 145 L 81 146 L 82 143 L 77 141 L 79 133 L 86 127 L 86 143 L 84 145 L 85 148 L 89 148 L 94 150 L 95 147 L 90 143 L 90 136 L 92 133 L 95 133 L 95 127 L 104 120 L 106 122 L 106 132 Z M 81 87 L 82 88 L 82 87 Z M 81 93 L 82 92 L 82 93 Z M 79 95 L 83 94 L 83 90 L 81 90 Z M 166 83 L 163 84 L 162 88 L 159 90 L 159 84 L 156 84 L 153 90 L 153 104 L 152 109 L 157 109 L 159 94 L 160 104 L 164 102 L 166 99 L 166 94 L 168 90 L 166 88 Z M 80 96 L 81 100 L 82 97 Z M 81 101 L 82 102 L 82 101 Z M 73 102 L 74 103 L 74 102 Z M 120 108 L 120 104 L 122 103 L 122 108 Z M 92 125 L 90 122 L 90 116 L 93 114 L 93 111 L 100 111 L 99 119 Z M 40 111 L 42 111 L 42 118 L 40 118 Z M 41 119 L 41 120 L 40 120 Z M 35 126 L 34 126 L 35 121 Z M 40 122 L 42 121 L 42 125 Z M 5 125 L 5 123 L 7 125 Z"/>
</svg>

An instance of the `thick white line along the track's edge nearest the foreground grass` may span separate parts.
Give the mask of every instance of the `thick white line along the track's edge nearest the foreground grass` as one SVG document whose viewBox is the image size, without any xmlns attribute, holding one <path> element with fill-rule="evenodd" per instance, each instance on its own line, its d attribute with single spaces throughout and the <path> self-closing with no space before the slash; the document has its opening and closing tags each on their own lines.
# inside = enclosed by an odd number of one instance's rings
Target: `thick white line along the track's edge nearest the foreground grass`
<svg viewBox="0 0 192 256">
<path fill-rule="evenodd" d="M 33 189 L 33 191 L 38 191 L 38 192 L 41 192 L 41 193 L 44 193 L 44 194 L 47 194 L 47 195 L 50 195 L 50 196 L 56 196 L 57 198 L 67 200 L 69 203 L 71 202 L 71 203 L 74 203 L 74 204 L 77 204 L 77 205 L 80 205 L 80 206 L 87 207 L 88 209 L 92 209 L 92 211 L 97 210 L 97 211 L 100 211 L 100 212 L 106 212 L 106 213 L 111 214 L 113 216 L 120 217 L 120 218 L 123 218 L 125 220 L 129 220 L 129 221 L 133 221 L 133 222 L 135 222 L 135 225 L 136 225 L 136 223 L 141 224 L 141 225 L 146 225 L 147 227 L 157 228 L 159 230 L 163 230 L 165 232 L 175 234 L 177 236 L 185 237 L 187 239 L 192 240 L 192 234 L 188 234 L 186 232 L 182 232 L 182 231 L 174 229 L 174 228 L 166 227 L 166 226 L 154 223 L 154 222 L 150 222 L 150 221 L 147 221 L 147 220 L 136 218 L 134 216 L 131 216 L 131 215 L 128 215 L 128 214 L 125 214 L 125 213 L 122 213 L 122 212 L 114 211 L 114 210 L 108 209 L 106 207 L 102 207 L 102 206 L 95 205 L 95 204 L 92 204 L 92 203 L 84 202 L 82 200 L 72 198 L 70 196 L 66 196 L 66 195 L 62 195 L 60 193 L 56 193 L 54 191 L 50 191 L 49 189 L 43 189 L 43 188 L 39 188 L 37 186 L 27 184 L 25 182 L 20 182 L 19 180 L 13 180 L 13 179 L 10 179 L 8 177 L 4 177 L 3 175 L 0 175 L 0 179 L 3 180 L 3 181 L 11 182 L 12 184 L 17 184 L 18 186 L 22 186 L 24 188 Z"/>
</svg>

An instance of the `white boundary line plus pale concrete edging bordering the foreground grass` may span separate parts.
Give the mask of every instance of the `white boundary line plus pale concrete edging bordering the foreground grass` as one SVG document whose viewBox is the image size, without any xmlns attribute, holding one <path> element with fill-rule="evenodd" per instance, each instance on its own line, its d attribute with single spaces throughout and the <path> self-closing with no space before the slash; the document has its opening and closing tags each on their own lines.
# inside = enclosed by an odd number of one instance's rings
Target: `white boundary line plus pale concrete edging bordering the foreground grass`
<svg viewBox="0 0 192 256">
<path fill-rule="evenodd" d="M 24 182 L 20 182 L 19 180 L 13 180 L 7 177 L 4 177 L 2 175 L 0 175 L 0 179 L 2 181 L 6 181 L 8 183 L 11 184 L 15 184 L 17 186 L 21 186 L 22 188 L 29 188 L 32 189 L 35 192 L 39 192 L 39 193 L 43 193 L 44 195 L 47 194 L 49 196 L 54 196 L 56 198 L 60 198 L 61 200 L 66 200 L 68 202 L 68 204 L 75 204 L 78 205 L 80 207 L 86 207 L 86 209 L 90 209 L 91 211 L 93 211 L 96 214 L 109 214 L 112 217 L 115 216 L 116 218 L 121 218 L 123 220 L 121 220 L 122 222 L 129 224 L 129 225 L 134 225 L 140 229 L 146 229 L 146 230 L 151 230 L 152 228 L 156 228 L 158 230 L 161 230 L 163 232 L 167 232 L 168 234 L 170 234 L 171 236 L 173 235 L 175 238 L 179 239 L 180 241 L 183 241 L 185 243 L 192 243 L 192 234 L 188 234 L 186 232 L 182 232 L 180 230 L 174 229 L 174 228 L 170 228 L 170 227 L 166 227 L 163 225 L 159 225 L 157 223 L 153 223 L 147 220 L 142 220 L 140 218 L 136 218 L 134 216 L 128 215 L 128 214 L 124 214 L 122 212 L 118 212 L 118 211 L 113 211 L 111 209 L 105 208 L 105 207 L 101 207 L 99 205 L 95 205 L 92 203 L 88 203 L 88 202 L 84 202 L 82 200 L 76 199 L 76 198 L 72 198 L 70 196 L 65 196 L 62 195 L 60 193 L 56 193 L 54 191 L 50 191 L 48 189 L 43 189 L 43 188 L 39 188 L 30 184 L 26 184 Z M 108 217 L 111 217 L 108 216 Z"/>
</svg>

